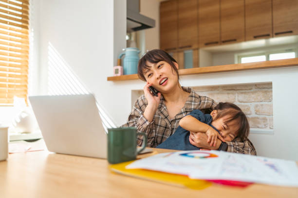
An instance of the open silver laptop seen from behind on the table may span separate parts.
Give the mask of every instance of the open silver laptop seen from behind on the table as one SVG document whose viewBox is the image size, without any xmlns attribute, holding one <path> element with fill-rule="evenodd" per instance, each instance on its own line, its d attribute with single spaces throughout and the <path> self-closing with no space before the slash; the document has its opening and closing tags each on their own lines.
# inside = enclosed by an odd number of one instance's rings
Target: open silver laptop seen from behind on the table
<svg viewBox="0 0 298 198">
<path fill-rule="evenodd" d="M 107 158 L 107 136 L 92 94 L 29 100 L 49 151 Z"/>
</svg>

